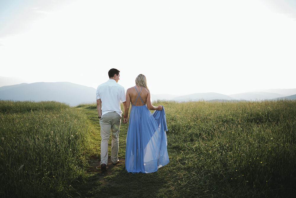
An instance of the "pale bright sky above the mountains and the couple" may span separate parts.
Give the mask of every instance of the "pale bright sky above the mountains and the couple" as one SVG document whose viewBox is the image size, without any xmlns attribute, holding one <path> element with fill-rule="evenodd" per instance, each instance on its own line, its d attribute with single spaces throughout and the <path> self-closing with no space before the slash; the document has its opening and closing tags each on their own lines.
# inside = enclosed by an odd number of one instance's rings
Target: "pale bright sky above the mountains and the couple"
<svg viewBox="0 0 296 198">
<path fill-rule="evenodd" d="M 1 0 L 0 76 L 152 94 L 296 88 L 293 0 Z"/>
</svg>

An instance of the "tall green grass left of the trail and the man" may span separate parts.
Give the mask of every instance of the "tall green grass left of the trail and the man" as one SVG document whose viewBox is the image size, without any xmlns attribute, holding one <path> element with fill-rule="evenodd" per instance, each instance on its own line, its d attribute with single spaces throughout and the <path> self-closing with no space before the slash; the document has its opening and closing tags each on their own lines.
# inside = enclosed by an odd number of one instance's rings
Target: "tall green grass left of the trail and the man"
<svg viewBox="0 0 296 198">
<path fill-rule="evenodd" d="M 66 104 L 0 101 L 0 197 L 71 193 L 86 165 L 86 131 L 85 114 Z"/>
</svg>

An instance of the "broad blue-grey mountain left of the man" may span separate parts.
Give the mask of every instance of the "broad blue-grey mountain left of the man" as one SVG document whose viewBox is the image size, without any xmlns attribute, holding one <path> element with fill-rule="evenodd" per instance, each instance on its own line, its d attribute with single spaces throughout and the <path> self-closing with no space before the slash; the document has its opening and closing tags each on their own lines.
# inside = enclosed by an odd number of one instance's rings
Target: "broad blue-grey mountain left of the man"
<svg viewBox="0 0 296 198">
<path fill-rule="evenodd" d="M 96 102 L 96 89 L 69 82 L 22 83 L 0 87 L 1 100 L 57 101 L 76 106 Z"/>
</svg>

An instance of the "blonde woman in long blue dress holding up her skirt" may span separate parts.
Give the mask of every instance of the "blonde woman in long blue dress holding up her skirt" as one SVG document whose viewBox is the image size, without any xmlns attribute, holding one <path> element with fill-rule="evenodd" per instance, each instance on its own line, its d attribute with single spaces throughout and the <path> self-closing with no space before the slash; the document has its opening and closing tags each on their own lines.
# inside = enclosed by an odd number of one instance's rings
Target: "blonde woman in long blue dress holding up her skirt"
<svg viewBox="0 0 296 198">
<path fill-rule="evenodd" d="M 169 163 L 166 119 L 163 106 L 151 104 L 146 77 L 136 78 L 136 86 L 126 91 L 123 123 L 130 121 L 126 137 L 126 170 L 132 173 L 150 173 Z M 149 110 L 156 110 L 153 114 Z"/>
</svg>

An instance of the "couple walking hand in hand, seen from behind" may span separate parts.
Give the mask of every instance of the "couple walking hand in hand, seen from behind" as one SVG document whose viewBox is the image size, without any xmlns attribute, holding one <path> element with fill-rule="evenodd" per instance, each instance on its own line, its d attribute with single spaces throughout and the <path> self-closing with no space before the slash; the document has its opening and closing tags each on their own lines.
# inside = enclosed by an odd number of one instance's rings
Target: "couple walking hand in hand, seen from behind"
<svg viewBox="0 0 296 198">
<path fill-rule="evenodd" d="M 142 74 L 136 77 L 136 86 L 126 93 L 118 84 L 119 70 L 110 69 L 109 80 L 98 86 L 96 103 L 101 127 L 101 170 L 107 171 L 108 141 L 111 133 L 111 161 L 117 164 L 118 134 L 123 103 L 123 123 L 128 125 L 126 137 L 126 170 L 132 173 L 150 173 L 168 164 L 167 131 L 163 106 L 151 104 L 150 92 L 146 77 Z M 131 112 L 128 115 L 131 104 Z M 149 110 L 155 110 L 153 114 Z"/>
</svg>

